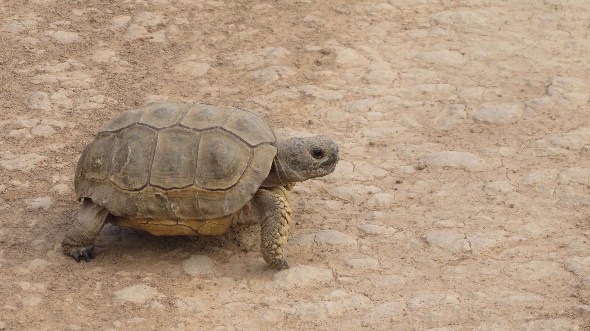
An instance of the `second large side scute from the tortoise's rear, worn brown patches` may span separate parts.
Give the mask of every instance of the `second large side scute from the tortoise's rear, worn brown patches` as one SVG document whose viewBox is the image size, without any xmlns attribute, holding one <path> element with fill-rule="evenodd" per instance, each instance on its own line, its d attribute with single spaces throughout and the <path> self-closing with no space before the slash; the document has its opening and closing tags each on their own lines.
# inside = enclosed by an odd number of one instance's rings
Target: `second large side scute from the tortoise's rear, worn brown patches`
<svg viewBox="0 0 590 331">
<path fill-rule="evenodd" d="M 124 190 L 137 190 L 148 183 L 148 170 L 156 131 L 136 125 L 117 135 L 109 179 Z"/>
</svg>

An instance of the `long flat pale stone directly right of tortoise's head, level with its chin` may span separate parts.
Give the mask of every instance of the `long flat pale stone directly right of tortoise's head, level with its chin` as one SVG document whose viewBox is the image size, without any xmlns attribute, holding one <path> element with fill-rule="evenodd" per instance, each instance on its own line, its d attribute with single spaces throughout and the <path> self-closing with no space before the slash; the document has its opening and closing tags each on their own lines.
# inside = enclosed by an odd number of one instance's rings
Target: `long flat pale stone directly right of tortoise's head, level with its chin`
<svg viewBox="0 0 590 331">
<path fill-rule="evenodd" d="M 428 167 L 455 167 L 467 171 L 484 171 L 489 168 L 486 160 L 483 158 L 459 151 L 442 151 L 424 154 L 419 158 L 419 163 Z"/>
</svg>

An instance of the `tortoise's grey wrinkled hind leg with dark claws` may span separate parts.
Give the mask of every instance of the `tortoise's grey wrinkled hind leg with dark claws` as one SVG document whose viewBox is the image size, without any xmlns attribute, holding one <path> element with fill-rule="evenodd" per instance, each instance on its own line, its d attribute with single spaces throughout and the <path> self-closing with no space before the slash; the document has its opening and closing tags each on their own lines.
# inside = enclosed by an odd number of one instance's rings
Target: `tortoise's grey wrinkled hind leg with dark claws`
<svg viewBox="0 0 590 331">
<path fill-rule="evenodd" d="M 65 253 L 74 257 L 76 262 L 80 262 L 80 256 L 84 257 L 86 262 L 94 259 L 94 240 L 103 229 L 107 216 L 109 211 L 106 208 L 93 203 L 89 198 L 84 198 L 78 209 L 77 219 L 61 241 Z"/>
</svg>

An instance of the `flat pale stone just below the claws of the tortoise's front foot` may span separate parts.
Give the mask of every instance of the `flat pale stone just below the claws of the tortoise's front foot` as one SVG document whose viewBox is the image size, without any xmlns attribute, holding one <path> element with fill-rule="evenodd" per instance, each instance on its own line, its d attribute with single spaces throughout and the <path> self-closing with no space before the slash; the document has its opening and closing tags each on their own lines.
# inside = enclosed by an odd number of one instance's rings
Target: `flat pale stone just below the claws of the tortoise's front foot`
<svg viewBox="0 0 590 331">
<path fill-rule="evenodd" d="M 277 289 L 290 290 L 315 286 L 333 279 L 332 270 L 310 266 L 295 266 L 281 270 L 273 275 L 273 285 Z"/>
</svg>

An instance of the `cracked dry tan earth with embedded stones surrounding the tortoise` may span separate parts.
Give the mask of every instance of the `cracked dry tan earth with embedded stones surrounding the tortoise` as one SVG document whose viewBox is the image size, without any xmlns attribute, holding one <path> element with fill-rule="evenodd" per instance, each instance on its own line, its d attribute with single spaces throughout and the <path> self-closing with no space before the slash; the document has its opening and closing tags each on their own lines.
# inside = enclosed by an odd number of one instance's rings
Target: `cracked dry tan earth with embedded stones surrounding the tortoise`
<svg viewBox="0 0 590 331">
<path fill-rule="evenodd" d="M 590 14 L 582 0 L 0 2 L 0 329 L 588 330 Z M 259 230 L 107 226 L 60 248 L 73 173 L 153 100 L 340 144 Z"/>
</svg>

